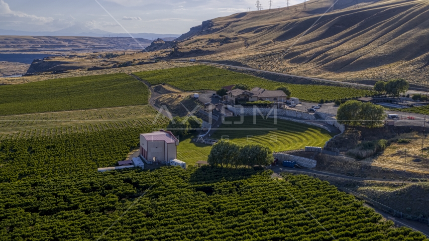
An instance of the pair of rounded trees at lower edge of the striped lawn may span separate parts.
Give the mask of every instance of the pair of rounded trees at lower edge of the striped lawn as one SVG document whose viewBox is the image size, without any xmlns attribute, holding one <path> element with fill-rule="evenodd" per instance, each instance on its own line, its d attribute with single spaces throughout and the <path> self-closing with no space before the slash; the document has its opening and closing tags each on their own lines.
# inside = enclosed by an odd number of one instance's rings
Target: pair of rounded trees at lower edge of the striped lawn
<svg viewBox="0 0 429 241">
<path fill-rule="evenodd" d="M 260 144 L 240 145 L 221 140 L 211 148 L 207 162 L 211 166 L 267 166 L 274 161 L 273 151 Z"/>
</svg>

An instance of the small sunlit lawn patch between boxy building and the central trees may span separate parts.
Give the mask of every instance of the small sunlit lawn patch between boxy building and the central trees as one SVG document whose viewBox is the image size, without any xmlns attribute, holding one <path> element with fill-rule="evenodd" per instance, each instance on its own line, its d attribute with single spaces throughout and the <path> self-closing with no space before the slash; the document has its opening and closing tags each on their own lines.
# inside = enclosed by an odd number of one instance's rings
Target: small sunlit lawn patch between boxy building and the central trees
<svg viewBox="0 0 429 241">
<path fill-rule="evenodd" d="M 195 165 L 197 161 L 207 161 L 211 146 L 202 143 L 192 142 L 196 135 L 180 137 L 180 143 L 177 147 L 177 158 L 186 162 L 186 165 Z"/>
</svg>

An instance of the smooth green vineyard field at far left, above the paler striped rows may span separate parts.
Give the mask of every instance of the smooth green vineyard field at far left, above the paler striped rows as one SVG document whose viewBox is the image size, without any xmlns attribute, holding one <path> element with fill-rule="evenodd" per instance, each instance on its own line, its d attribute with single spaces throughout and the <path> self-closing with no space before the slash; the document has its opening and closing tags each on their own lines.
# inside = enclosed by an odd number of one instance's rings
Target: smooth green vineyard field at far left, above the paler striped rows
<svg viewBox="0 0 429 241">
<path fill-rule="evenodd" d="M 147 104 L 149 89 L 127 74 L 0 86 L 0 115 Z"/>
</svg>

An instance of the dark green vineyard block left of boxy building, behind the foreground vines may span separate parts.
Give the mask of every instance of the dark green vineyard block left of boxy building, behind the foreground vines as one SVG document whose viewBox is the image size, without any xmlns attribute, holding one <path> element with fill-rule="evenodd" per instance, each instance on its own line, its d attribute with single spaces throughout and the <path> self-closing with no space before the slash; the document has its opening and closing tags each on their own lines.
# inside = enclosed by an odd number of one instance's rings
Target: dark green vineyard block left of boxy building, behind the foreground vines
<svg viewBox="0 0 429 241">
<path fill-rule="evenodd" d="M 0 182 L 26 177 L 51 178 L 92 173 L 115 166 L 139 146 L 139 134 L 166 125 L 110 129 L 90 133 L 9 139 L 0 142 Z"/>
</svg>

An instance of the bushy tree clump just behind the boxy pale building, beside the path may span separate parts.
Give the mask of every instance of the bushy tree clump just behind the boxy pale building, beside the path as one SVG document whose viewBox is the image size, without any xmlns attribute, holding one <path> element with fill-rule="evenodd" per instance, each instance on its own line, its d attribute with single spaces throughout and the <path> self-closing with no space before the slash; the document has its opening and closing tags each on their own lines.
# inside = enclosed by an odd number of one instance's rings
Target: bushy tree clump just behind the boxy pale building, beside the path
<svg viewBox="0 0 429 241">
<path fill-rule="evenodd" d="M 202 119 L 196 116 L 174 116 L 167 126 L 167 130 L 173 133 L 174 136 L 182 136 L 194 132 L 201 128 Z"/>
</svg>

